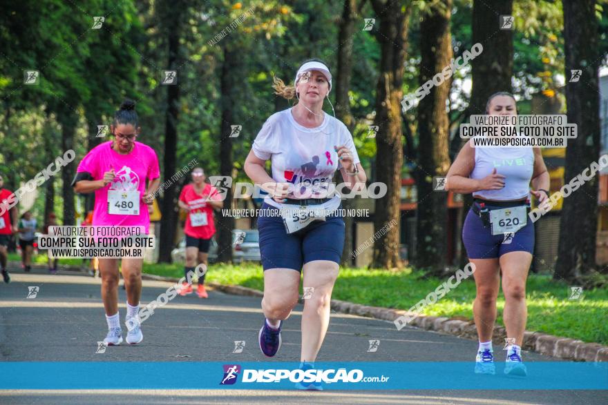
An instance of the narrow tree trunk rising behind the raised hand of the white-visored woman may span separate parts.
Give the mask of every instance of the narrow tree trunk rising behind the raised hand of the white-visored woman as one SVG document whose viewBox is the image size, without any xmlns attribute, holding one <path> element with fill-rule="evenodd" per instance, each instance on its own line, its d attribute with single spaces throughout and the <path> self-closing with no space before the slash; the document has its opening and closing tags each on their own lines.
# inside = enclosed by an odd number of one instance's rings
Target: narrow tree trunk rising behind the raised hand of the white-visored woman
<svg viewBox="0 0 608 405">
<path fill-rule="evenodd" d="M 338 32 L 338 69 L 336 72 L 335 95 L 336 95 L 336 117 L 342 121 L 348 130 L 354 129 L 354 119 L 350 114 L 350 99 L 348 89 L 350 88 L 350 77 L 352 76 L 352 37 L 354 32 L 354 18 L 357 13 L 356 0 L 344 0 L 342 18 Z M 342 182 L 342 176 L 336 172 L 336 183 Z M 342 208 L 348 210 L 352 201 L 344 199 Z M 344 216 L 345 237 L 344 250 L 342 252 L 342 266 L 352 265 L 352 236 L 354 221 L 349 215 Z"/>
</svg>

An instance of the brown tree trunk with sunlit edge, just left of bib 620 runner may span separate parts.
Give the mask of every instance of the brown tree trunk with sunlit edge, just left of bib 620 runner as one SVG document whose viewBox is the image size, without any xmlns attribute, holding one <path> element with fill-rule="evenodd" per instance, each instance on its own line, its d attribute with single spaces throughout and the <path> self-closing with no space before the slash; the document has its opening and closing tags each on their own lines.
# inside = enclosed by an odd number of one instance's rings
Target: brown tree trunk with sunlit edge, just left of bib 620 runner
<svg viewBox="0 0 608 405">
<path fill-rule="evenodd" d="M 431 6 L 420 23 L 420 80 L 426 83 L 449 66 L 452 59 L 450 14 L 452 0 Z M 433 190 L 433 177 L 445 176 L 450 168 L 448 155 L 449 119 L 446 100 L 450 80 L 433 86 L 418 106 L 419 166 L 417 167 L 418 207 L 415 264 L 441 274 L 446 266 L 448 235 L 447 193 Z"/>
</svg>

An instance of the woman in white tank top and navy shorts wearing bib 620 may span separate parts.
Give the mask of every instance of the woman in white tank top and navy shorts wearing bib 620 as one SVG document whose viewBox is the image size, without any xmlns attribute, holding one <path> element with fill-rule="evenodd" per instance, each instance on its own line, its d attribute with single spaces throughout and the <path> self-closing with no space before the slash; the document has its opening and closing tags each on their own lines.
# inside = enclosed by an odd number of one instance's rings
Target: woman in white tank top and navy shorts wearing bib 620
<svg viewBox="0 0 608 405">
<path fill-rule="evenodd" d="M 517 115 L 513 95 L 492 95 L 486 114 Z M 508 344 L 504 373 L 526 375 L 521 346 L 527 317 L 526 277 L 534 247 L 534 227 L 526 206 L 530 194 L 540 203 L 548 199 L 549 173 L 540 148 L 473 148 L 471 142 L 464 145 L 450 167 L 446 190 L 475 197 L 462 230 L 467 255 L 475 265 L 477 286 L 473 303 L 479 335 L 475 373 L 495 373 L 492 334 L 500 269 Z M 530 189 L 530 183 L 535 190 Z M 506 228 L 504 224 L 511 221 L 517 221 L 517 226 Z M 500 233 L 506 229 L 513 231 Z"/>
</svg>

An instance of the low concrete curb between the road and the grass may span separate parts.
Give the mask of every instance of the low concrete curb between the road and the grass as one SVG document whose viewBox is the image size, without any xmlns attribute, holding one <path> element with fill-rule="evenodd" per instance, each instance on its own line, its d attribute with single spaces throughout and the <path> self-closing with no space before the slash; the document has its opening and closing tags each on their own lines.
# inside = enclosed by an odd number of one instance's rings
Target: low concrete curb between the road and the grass
<svg viewBox="0 0 608 405">
<path fill-rule="evenodd" d="M 41 265 L 36 265 L 36 267 L 46 268 L 46 266 Z M 82 268 L 77 266 L 61 266 L 61 270 L 83 272 Z M 142 274 L 142 279 L 169 281 L 172 283 L 177 283 L 179 281 L 177 277 L 162 277 L 145 273 Z M 226 286 L 224 284 L 213 282 L 207 282 L 207 286 L 232 295 L 247 295 L 249 297 L 264 296 L 264 293 L 261 291 L 243 286 Z M 303 303 L 303 299 L 300 299 L 299 301 L 301 304 Z M 475 328 L 475 324 L 468 320 L 416 315 L 413 313 L 408 313 L 406 310 L 382 308 L 379 306 L 365 306 L 361 304 L 353 304 L 352 302 L 341 301 L 339 299 L 332 299 L 331 308 L 339 313 L 382 319 L 390 322 L 394 322 L 395 319 L 401 317 L 402 315 L 409 315 L 413 319 L 411 322 L 409 322 L 408 326 L 414 326 L 425 330 L 433 330 L 438 333 L 455 335 L 458 337 L 464 337 L 466 339 L 477 339 L 477 329 Z M 505 336 L 506 330 L 504 327 L 495 326 L 492 337 L 493 343 L 497 346 L 502 346 L 504 344 Z M 608 362 L 608 346 L 602 346 L 601 344 L 597 343 L 585 343 L 581 340 L 547 335 L 546 333 L 540 332 L 531 332 L 529 330 L 524 332 L 524 343 L 522 344 L 522 348 L 525 350 L 532 350 L 543 355 L 558 357 L 560 359 L 570 359 L 578 362 Z"/>
</svg>

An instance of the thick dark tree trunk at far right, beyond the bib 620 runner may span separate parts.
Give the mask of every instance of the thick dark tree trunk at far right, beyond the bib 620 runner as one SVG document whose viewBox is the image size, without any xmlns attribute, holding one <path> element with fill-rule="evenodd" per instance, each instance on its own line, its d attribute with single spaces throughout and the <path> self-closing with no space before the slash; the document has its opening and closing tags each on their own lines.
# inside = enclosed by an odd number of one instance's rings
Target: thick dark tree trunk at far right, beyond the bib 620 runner
<svg viewBox="0 0 608 405">
<path fill-rule="evenodd" d="M 564 51 L 567 80 L 582 70 L 578 82 L 566 83 L 568 122 L 578 124 L 578 137 L 568 140 L 564 182 L 576 177 L 600 156 L 598 23 L 593 0 L 564 0 Z M 555 279 L 573 281 L 596 268 L 598 175 L 564 198 L 560 219 Z"/>
</svg>

